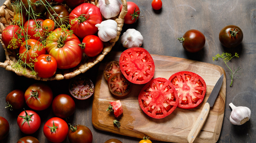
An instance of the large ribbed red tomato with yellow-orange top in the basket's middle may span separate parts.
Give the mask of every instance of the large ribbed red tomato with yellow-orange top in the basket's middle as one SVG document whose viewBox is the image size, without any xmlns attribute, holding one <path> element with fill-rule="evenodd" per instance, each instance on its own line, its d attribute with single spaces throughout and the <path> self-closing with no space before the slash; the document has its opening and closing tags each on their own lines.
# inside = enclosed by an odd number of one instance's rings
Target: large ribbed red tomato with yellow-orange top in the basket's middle
<svg viewBox="0 0 256 143">
<path fill-rule="evenodd" d="M 46 40 L 50 39 L 53 42 L 45 48 L 55 58 L 59 69 L 74 68 L 81 62 L 83 51 L 78 46 L 81 42 L 74 34 L 70 36 L 69 30 L 64 32 L 61 28 L 54 29 Z"/>
</svg>

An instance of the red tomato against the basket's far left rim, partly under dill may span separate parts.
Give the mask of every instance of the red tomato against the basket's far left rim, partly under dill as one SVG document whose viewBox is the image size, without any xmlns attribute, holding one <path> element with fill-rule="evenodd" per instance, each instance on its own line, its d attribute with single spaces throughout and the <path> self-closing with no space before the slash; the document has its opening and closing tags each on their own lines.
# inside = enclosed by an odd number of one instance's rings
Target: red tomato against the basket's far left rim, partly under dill
<svg viewBox="0 0 256 143">
<path fill-rule="evenodd" d="M 5 27 L 2 33 L 2 41 L 7 48 L 20 48 L 21 43 L 25 41 L 25 38 L 22 38 L 24 34 L 20 30 L 21 29 L 17 25 L 9 25 Z"/>
</svg>

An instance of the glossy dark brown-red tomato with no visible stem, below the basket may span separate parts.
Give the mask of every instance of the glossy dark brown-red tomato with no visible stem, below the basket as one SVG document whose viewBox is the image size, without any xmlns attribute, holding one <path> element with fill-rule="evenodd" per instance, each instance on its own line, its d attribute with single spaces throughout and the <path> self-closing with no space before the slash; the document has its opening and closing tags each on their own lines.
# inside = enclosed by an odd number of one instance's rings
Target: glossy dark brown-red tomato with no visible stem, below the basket
<svg viewBox="0 0 256 143">
<path fill-rule="evenodd" d="M 75 101 L 67 94 L 59 94 L 53 99 L 53 114 L 59 118 L 67 118 L 75 112 Z"/>
</svg>

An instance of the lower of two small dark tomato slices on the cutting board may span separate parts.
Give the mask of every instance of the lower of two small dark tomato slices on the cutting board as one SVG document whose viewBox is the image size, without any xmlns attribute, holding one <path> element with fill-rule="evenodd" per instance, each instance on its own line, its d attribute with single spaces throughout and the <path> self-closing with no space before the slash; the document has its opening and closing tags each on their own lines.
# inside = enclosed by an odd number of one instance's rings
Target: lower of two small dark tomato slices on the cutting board
<svg viewBox="0 0 256 143">
<path fill-rule="evenodd" d="M 125 96 L 131 92 L 132 84 L 121 71 L 112 74 L 108 79 L 109 91 L 116 96 Z"/>
</svg>

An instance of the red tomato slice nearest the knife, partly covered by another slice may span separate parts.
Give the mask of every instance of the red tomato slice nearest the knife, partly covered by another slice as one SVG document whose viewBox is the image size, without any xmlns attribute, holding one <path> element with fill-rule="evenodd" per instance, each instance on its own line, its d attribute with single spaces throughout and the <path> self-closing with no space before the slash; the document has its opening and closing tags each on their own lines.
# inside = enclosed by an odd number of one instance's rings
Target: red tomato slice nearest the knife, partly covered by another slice
<svg viewBox="0 0 256 143">
<path fill-rule="evenodd" d="M 201 76 L 190 71 L 174 73 L 169 78 L 179 96 L 178 107 L 191 109 L 197 107 L 204 98 L 206 84 Z"/>
</svg>

